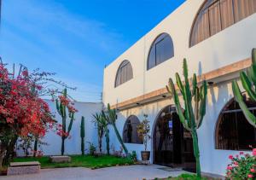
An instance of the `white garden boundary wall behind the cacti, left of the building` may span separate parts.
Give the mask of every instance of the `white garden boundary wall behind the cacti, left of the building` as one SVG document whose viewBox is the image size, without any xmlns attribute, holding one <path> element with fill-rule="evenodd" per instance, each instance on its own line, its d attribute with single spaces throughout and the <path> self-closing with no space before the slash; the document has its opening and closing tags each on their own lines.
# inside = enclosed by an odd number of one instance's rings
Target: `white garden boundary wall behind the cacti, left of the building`
<svg viewBox="0 0 256 180">
<path fill-rule="evenodd" d="M 49 100 L 47 102 L 49 103 L 51 112 L 56 112 L 55 102 Z M 81 154 L 80 123 L 82 116 L 85 119 L 85 149 L 88 149 L 88 143 L 86 142 L 93 142 L 97 145 L 97 131 L 94 123 L 91 122 L 91 116 L 93 113 L 102 111 L 102 103 L 75 102 L 74 107 L 79 112 L 75 113 L 75 120 L 73 121 L 73 127 L 70 133 L 71 139 L 67 139 L 65 142 L 65 154 Z M 55 113 L 55 119 L 61 124 L 61 116 L 58 113 Z M 49 131 L 43 141 L 49 143 L 48 146 L 43 146 L 44 155 L 61 154 L 61 136 L 56 135 L 53 131 Z"/>
</svg>

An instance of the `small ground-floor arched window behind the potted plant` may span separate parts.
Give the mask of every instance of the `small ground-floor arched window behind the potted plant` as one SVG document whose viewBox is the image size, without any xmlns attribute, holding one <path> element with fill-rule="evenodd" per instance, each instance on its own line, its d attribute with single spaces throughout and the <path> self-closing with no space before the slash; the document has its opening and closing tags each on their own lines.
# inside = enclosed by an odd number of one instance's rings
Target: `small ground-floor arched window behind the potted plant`
<svg viewBox="0 0 256 180">
<path fill-rule="evenodd" d="M 142 138 L 140 138 L 137 134 L 137 125 L 140 125 L 140 121 L 136 116 L 131 115 L 128 119 L 126 119 L 123 131 L 123 141 L 125 143 L 143 143 Z"/>
</svg>

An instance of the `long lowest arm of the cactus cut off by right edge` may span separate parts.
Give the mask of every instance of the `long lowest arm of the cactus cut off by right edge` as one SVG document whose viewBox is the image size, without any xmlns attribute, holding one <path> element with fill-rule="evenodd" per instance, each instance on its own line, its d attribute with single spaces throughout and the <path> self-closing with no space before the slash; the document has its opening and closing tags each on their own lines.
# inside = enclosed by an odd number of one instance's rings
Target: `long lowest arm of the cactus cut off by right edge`
<svg viewBox="0 0 256 180">
<path fill-rule="evenodd" d="M 235 100 L 238 102 L 239 106 L 241 107 L 242 113 L 245 115 L 247 121 L 253 125 L 253 127 L 256 127 L 256 117 L 249 111 L 247 108 L 245 102 L 243 102 L 243 97 L 241 95 L 241 90 L 239 89 L 239 86 L 236 81 L 232 82 L 232 89 L 234 92 Z"/>
</svg>

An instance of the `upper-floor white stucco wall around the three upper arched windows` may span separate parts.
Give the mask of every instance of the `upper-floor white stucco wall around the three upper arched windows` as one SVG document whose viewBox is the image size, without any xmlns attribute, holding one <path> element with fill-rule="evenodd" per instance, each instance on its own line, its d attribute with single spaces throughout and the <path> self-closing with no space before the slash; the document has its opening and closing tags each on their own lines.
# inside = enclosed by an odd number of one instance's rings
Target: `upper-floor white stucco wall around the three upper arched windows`
<svg viewBox="0 0 256 180">
<path fill-rule="evenodd" d="M 165 87 L 168 78 L 173 78 L 176 72 L 182 73 L 183 58 L 188 59 L 191 75 L 194 72 L 207 73 L 250 56 L 251 49 L 256 47 L 256 14 L 189 48 L 191 26 L 203 2 L 187 0 L 105 68 L 104 104 L 124 102 Z M 172 37 L 174 57 L 147 71 L 148 51 L 154 39 L 162 32 Z M 133 78 L 114 88 L 115 75 L 124 60 L 131 62 Z"/>
</svg>

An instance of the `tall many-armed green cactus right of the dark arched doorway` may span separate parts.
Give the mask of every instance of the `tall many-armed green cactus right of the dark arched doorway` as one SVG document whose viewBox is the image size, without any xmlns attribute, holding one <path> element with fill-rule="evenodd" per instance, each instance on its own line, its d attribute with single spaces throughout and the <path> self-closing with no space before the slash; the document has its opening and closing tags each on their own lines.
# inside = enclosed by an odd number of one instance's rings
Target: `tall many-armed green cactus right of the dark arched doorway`
<svg viewBox="0 0 256 180">
<path fill-rule="evenodd" d="M 192 90 L 190 90 L 188 65 L 186 59 L 183 59 L 183 76 L 184 83 L 182 82 L 178 73 L 176 73 L 177 87 L 183 96 L 184 110 L 180 104 L 176 87 L 169 79 L 169 84 L 166 86 L 168 92 L 173 96 L 176 105 L 176 110 L 180 121 L 186 130 L 191 133 L 193 138 L 193 148 L 196 161 L 196 174 L 201 177 L 201 165 L 200 165 L 200 151 L 198 145 L 197 129 L 200 128 L 202 120 L 206 114 L 206 102 L 207 102 L 207 82 L 202 81 L 201 86 L 197 84 L 196 74 L 192 78 Z M 194 99 L 194 103 L 193 103 Z"/>
</svg>

